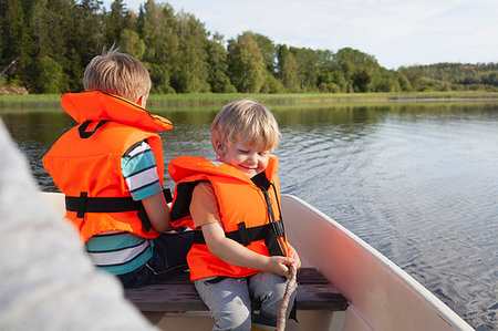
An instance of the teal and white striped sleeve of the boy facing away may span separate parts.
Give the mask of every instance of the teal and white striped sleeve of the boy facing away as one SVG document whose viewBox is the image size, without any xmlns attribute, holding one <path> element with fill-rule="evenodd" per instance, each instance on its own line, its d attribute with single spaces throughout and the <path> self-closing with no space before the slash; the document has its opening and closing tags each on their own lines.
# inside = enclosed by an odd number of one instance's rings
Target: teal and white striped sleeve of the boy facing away
<svg viewBox="0 0 498 331">
<path fill-rule="evenodd" d="M 156 158 L 145 141 L 126 151 L 121 158 L 121 169 L 134 200 L 142 200 L 163 190 Z"/>
</svg>

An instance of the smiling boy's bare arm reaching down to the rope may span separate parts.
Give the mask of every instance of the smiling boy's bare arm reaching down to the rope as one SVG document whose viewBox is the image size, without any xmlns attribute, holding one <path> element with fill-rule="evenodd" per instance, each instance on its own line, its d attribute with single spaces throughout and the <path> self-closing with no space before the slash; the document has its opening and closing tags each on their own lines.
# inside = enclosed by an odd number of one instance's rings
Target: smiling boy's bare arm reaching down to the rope
<svg viewBox="0 0 498 331">
<path fill-rule="evenodd" d="M 290 277 L 287 265 L 294 265 L 294 259 L 280 256 L 267 257 L 257 254 L 237 241 L 227 238 L 218 223 L 203 225 L 201 230 L 209 251 L 217 258 L 230 265 Z"/>
</svg>

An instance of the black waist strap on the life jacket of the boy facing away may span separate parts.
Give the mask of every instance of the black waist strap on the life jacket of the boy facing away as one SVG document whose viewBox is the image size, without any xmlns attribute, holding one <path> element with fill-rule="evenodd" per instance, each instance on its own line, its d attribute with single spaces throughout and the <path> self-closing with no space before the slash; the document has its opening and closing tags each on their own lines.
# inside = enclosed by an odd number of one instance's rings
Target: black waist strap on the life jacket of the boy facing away
<svg viewBox="0 0 498 331">
<path fill-rule="evenodd" d="M 167 203 L 173 200 L 169 188 L 163 190 Z M 138 211 L 138 217 L 148 231 L 152 228 L 151 220 L 145 211 L 142 201 L 135 201 L 132 197 L 87 197 L 86 192 L 82 192 L 79 197 L 65 196 L 65 209 L 76 211 L 77 218 L 85 217 L 86 213 L 125 213 Z"/>
</svg>

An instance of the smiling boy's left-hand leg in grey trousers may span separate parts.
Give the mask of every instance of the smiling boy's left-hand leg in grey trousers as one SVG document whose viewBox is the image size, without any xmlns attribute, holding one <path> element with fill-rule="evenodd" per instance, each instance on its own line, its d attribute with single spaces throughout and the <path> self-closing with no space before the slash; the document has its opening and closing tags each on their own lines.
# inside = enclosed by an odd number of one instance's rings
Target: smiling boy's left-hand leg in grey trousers
<svg viewBox="0 0 498 331">
<path fill-rule="evenodd" d="M 206 278 L 194 283 L 215 319 L 212 330 L 251 329 L 251 300 L 246 278 Z"/>
</svg>

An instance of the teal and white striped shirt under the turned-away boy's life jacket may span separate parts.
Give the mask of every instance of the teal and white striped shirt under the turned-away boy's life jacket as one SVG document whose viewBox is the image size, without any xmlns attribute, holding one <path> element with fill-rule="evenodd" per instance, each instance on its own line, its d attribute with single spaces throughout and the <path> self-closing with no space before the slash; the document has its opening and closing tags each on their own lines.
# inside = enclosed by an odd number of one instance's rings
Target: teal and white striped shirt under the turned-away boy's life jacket
<svg viewBox="0 0 498 331">
<path fill-rule="evenodd" d="M 126 151 L 121 159 L 123 176 L 134 200 L 142 200 L 163 190 L 156 158 L 144 141 Z M 153 255 L 153 241 L 129 232 L 108 231 L 86 241 L 93 263 L 113 275 L 131 272 Z"/>
</svg>

